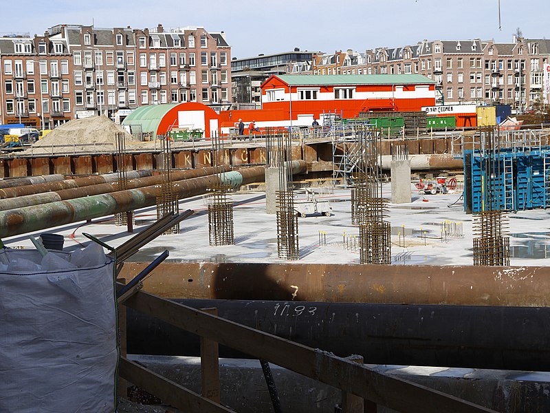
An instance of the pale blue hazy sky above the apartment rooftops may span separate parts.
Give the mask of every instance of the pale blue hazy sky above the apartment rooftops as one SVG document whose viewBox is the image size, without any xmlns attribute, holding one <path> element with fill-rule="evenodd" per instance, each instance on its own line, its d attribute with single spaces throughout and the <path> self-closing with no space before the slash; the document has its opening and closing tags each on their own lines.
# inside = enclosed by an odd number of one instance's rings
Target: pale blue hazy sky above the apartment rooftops
<svg viewBox="0 0 550 413">
<path fill-rule="evenodd" d="M 98 28 L 196 25 L 226 34 L 237 58 L 293 50 L 334 52 L 412 45 L 423 39 L 510 42 L 520 28 L 550 39 L 550 0 L 1 0 L 2 35 L 42 34 L 59 23 Z"/>
</svg>

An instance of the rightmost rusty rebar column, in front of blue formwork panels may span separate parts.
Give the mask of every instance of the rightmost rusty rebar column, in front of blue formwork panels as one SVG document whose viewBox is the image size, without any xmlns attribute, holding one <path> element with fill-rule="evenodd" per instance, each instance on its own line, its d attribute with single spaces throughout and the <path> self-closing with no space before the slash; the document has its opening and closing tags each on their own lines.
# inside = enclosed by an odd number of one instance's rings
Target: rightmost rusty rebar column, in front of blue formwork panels
<svg viewBox="0 0 550 413">
<path fill-rule="evenodd" d="M 474 265 L 509 266 L 507 215 L 500 209 L 500 142 L 498 132 L 479 132 L 482 161 L 482 211 L 474 215 Z"/>
</svg>

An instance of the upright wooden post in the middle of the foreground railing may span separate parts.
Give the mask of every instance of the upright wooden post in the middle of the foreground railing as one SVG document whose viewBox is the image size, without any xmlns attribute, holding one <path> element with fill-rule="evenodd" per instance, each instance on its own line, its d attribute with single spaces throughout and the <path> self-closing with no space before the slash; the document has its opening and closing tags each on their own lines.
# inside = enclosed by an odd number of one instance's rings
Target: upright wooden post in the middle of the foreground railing
<svg viewBox="0 0 550 413">
<path fill-rule="evenodd" d="M 201 308 L 218 315 L 217 308 Z M 216 341 L 201 337 L 201 393 L 206 399 L 219 403 L 219 348 Z"/>
</svg>

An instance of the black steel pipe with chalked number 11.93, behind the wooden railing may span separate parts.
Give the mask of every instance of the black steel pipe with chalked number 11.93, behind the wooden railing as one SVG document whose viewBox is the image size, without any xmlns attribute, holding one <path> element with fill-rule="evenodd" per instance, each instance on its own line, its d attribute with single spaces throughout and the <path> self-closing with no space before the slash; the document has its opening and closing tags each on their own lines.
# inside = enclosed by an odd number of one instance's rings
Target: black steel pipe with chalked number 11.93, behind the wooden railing
<svg viewBox="0 0 550 413">
<path fill-rule="evenodd" d="M 340 357 L 359 354 L 364 363 L 550 371 L 550 308 L 175 301 Z M 129 352 L 199 354 L 189 333 L 131 309 L 126 317 Z"/>
</svg>

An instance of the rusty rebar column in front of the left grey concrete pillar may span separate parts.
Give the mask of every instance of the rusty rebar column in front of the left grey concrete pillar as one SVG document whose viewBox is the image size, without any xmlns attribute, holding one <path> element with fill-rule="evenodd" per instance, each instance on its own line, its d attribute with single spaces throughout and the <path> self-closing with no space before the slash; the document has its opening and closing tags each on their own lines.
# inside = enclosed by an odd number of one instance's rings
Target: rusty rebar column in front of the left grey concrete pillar
<svg viewBox="0 0 550 413">
<path fill-rule="evenodd" d="M 285 161 L 292 161 L 290 133 L 274 135 L 267 131 L 266 149 L 267 165 L 277 167 L 279 175 L 279 190 L 276 191 L 278 257 L 284 260 L 298 260 L 298 216 L 294 210 L 294 192 L 289 184 L 292 182 L 292 168 L 285 165 Z"/>
</svg>

